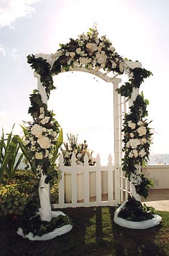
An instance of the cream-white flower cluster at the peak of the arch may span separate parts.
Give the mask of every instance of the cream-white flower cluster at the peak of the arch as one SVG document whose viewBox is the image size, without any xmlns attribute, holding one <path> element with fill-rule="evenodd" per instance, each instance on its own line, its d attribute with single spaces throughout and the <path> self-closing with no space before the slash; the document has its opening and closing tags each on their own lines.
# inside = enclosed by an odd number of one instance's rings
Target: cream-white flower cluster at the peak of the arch
<svg viewBox="0 0 169 256">
<path fill-rule="evenodd" d="M 109 51 L 109 53 L 106 53 Z M 91 30 L 89 35 L 79 35 L 79 38 L 74 44 L 74 48 L 69 51 L 67 49 L 60 49 L 52 55 L 56 60 L 60 56 L 66 56 L 67 65 L 73 65 L 73 67 L 81 67 L 88 65 L 89 69 L 92 68 L 105 68 L 107 59 L 109 58 L 109 68 L 116 68 L 119 66 L 121 73 L 124 72 L 124 61 L 119 56 L 116 56 L 115 48 L 112 46 L 111 42 L 105 36 L 102 38 L 98 37 L 98 31 L 96 28 Z M 75 56 L 77 57 L 74 58 Z M 74 60 L 75 59 L 75 60 Z"/>
</svg>

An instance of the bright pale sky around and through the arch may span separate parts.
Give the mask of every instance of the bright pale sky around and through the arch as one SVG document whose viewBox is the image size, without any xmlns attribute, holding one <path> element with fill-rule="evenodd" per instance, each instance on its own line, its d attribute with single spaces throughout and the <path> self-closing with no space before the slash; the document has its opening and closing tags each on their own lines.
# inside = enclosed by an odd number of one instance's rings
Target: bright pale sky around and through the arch
<svg viewBox="0 0 169 256">
<path fill-rule="evenodd" d="M 31 120 L 29 94 L 36 88 L 27 64 L 30 53 L 54 53 L 59 43 L 76 39 L 98 24 L 116 51 L 154 76 L 142 85 L 149 99 L 149 119 L 155 129 L 152 153 L 169 154 L 169 1 L 168 0 L 0 0 L 0 129 Z M 87 139 L 101 159 L 113 154 L 112 85 L 87 73 L 62 73 L 54 78 L 49 109 L 66 133 Z"/>
</svg>

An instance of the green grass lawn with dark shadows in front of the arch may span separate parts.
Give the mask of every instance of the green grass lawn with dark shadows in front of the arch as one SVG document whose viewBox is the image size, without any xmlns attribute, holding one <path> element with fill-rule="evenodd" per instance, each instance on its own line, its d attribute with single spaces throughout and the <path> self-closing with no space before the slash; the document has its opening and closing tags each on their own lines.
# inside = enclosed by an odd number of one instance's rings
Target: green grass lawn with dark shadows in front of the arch
<svg viewBox="0 0 169 256">
<path fill-rule="evenodd" d="M 169 213 L 158 212 L 162 223 L 146 230 L 122 228 L 113 222 L 114 207 L 67 208 L 71 232 L 48 241 L 29 241 L 16 234 L 17 221 L 1 218 L 2 256 L 169 256 Z"/>
</svg>

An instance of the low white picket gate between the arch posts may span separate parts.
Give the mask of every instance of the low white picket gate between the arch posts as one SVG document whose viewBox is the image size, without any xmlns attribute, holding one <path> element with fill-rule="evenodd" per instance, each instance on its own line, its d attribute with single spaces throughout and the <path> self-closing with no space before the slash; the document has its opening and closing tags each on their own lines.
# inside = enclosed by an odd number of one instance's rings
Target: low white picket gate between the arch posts
<svg viewBox="0 0 169 256">
<path fill-rule="evenodd" d="M 77 166 L 75 154 L 71 158 L 71 166 L 64 166 L 63 155 L 60 154 L 59 164 L 62 179 L 58 184 L 58 204 L 54 208 L 66 207 L 93 207 L 115 205 L 115 166 L 112 164 L 112 156 L 108 156 L 107 166 L 100 165 L 100 156 L 96 156 L 95 166 L 88 165 L 88 156 L 84 156 L 83 166 Z M 71 176 L 69 184 L 65 183 L 67 175 Z M 78 175 L 81 175 L 78 179 Z M 66 189 L 66 186 L 71 189 Z M 94 189 L 95 188 L 95 189 Z M 82 191 L 83 190 L 83 191 Z M 66 202 L 67 195 L 70 202 Z M 78 196 L 80 194 L 80 200 Z M 103 198 L 104 197 L 104 198 Z"/>
</svg>

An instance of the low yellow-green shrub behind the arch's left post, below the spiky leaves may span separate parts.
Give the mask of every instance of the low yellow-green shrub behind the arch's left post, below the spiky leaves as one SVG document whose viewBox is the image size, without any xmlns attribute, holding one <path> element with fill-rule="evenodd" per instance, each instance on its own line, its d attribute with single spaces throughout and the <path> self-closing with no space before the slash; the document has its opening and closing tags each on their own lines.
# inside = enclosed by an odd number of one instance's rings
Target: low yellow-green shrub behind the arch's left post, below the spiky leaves
<svg viewBox="0 0 169 256">
<path fill-rule="evenodd" d="M 39 207 L 39 180 L 26 170 L 15 172 L 14 179 L 3 177 L 0 185 L 0 216 L 21 215 L 27 205 Z M 51 188 L 51 203 L 58 202 L 58 184 Z"/>
</svg>

